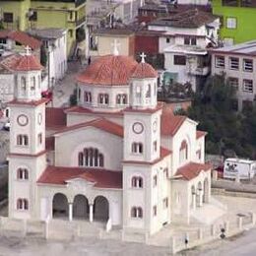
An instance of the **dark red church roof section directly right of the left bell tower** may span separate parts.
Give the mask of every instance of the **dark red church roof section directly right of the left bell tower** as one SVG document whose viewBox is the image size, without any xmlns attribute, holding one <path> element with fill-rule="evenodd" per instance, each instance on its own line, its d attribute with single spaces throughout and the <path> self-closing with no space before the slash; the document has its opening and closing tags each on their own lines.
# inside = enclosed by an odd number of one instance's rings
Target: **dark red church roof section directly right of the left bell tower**
<svg viewBox="0 0 256 256">
<path fill-rule="evenodd" d="M 45 109 L 46 129 L 60 129 L 66 127 L 65 108 L 46 107 Z"/>
</svg>

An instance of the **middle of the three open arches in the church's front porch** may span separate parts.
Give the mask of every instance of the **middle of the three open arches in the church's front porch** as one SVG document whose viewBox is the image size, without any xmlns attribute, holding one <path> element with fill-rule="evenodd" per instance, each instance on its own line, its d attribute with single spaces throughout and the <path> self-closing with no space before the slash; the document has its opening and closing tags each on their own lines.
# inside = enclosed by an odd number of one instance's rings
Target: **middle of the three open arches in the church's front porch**
<svg viewBox="0 0 256 256">
<path fill-rule="evenodd" d="M 73 218 L 88 219 L 89 203 L 83 195 L 76 195 L 73 201 Z"/>
</svg>

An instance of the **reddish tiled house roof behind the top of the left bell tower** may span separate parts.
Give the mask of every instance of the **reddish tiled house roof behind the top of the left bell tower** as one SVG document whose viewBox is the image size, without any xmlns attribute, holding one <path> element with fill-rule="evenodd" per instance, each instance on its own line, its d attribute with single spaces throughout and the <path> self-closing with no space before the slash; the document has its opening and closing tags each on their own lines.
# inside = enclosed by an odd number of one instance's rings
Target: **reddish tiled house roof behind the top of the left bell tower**
<svg viewBox="0 0 256 256">
<path fill-rule="evenodd" d="M 30 36 L 26 32 L 1 31 L 0 38 L 10 38 L 25 46 L 30 46 L 33 50 L 41 46 L 42 42 Z"/>
</svg>

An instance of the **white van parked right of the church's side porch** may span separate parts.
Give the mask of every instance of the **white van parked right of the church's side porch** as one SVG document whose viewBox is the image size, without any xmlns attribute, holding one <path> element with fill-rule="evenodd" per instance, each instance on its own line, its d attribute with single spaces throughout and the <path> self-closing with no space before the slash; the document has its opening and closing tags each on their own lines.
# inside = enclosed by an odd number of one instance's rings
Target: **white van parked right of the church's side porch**
<svg viewBox="0 0 256 256">
<path fill-rule="evenodd" d="M 250 179 L 256 173 L 255 160 L 224 160 L 224 178 Z"/>
</svg>

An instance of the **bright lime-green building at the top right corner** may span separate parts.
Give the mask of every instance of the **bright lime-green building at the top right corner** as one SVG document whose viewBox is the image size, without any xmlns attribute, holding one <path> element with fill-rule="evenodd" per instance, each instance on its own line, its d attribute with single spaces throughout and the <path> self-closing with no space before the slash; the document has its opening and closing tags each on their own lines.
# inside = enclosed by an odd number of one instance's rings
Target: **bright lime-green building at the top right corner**
<svg viewBox="0 0 256 256">
<path fill-rule="evenodd" d="M 226 46 L 256 38 L 255 1 L 213 0 L 212 7 L 222 17 L 221 37 Z"/>
</svg>

